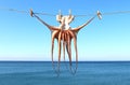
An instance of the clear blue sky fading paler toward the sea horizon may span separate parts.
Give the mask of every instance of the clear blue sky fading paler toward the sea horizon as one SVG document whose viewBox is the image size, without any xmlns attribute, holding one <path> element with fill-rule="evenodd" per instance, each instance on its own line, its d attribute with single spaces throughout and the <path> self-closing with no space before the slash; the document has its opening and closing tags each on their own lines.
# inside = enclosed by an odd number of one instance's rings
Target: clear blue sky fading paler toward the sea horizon
<svg viewBox="0 0 130 85">
<path fill-rule="evenodd" d="M 64 15 L 130 11 L 129 0 L 1 0 L 0 8 Z M 58 26 L 54 16 L 39 15 Z M 76 17 L 77 27 L 91 16 Z M 103 15 L 78 33 L 79 60 L 130 60 L 130 13 Z M 56 47 L 56 44 L 55 44 Z M 56 48 L 54 51 L 56 59 Z M 73 57 L 73 59 L 75 56 Z M 51 60 L 51 32 L 29 14 L 0 10 L 0 60 Z"/>
</svg>

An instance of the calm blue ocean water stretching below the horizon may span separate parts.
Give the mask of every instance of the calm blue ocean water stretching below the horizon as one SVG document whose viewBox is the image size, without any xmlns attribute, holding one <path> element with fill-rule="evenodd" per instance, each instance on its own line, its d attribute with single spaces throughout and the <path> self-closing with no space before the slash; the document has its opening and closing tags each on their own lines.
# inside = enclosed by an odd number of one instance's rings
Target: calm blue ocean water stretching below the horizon
<svg viewBox="0 0 130 85">
<path fill-rule="evenodd" d="M 75 75 L 62 63 L 57 76 L 50 61 L 0 61 L 0 85 L 130 85 L 130 62 L 83 61 Z"/>
</svg>

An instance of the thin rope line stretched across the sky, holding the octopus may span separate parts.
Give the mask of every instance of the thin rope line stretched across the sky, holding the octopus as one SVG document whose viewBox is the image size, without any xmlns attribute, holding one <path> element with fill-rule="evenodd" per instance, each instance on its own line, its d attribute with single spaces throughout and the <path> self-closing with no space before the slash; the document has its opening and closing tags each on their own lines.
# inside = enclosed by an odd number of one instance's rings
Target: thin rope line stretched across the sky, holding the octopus
<svg viewBox="0 0 130 85">
<path fill-rule="evenodd" d="M 3 9 L 0 8 L 0 10 L 3 11 L 11 11 L 11 12 L 17 12 L 17 13 L 26 13 L 28 14 L 28 11 L 20 11 L 20 10 L 15 10 L 15 9 Z M 114 14 L 127 14 L 130 13 L 130 11 L 117 11 L 117 12 L 109 12 L 109 13 L 102 13 L 102 15 L 114 15 Z M 48 13 L 35 13 L 38 15 L 47 15 L 47 16 L 55 16 L 56 14 L 48 14 Z M 84 14 L 84 15 L 75 15 L 76 17 L 86 17 L 86 16 L 93 16 L 94 14 Z"/>
</svg>

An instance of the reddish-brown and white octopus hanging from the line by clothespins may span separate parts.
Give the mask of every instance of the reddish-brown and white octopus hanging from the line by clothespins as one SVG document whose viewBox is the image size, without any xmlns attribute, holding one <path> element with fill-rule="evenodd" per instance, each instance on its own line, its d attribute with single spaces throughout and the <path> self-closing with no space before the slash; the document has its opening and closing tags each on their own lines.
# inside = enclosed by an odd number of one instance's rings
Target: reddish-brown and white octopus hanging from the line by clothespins
<svg viewBox="0 0 130 85">
<path fill-rule="evenodd" d="M 98 11 L 99 18 L 101 19 L 101 13 Z M 58 27 L 54 27 L 54 26 L 50 26 L 48 25 L 46 22 L 43 22 L 42 19 L 40 19 L 40 17 L 38 17 L 32 10 L 30 10 L 30 16 L 36 17 L 38 20 L 40 20 L 43 25 L 46 25 L 50 31 L 52 32 L 52 45 L 51 45 L 51 57 L 52 57 L 52 67 L 55 70 L 55 72 L 57 73 L 57 75 L 60 74 L 60 63 L 61 63 L 61 49 L 63 46 L 63 57 L 65 60 L 65 48 L 68 55 L 68 59 L 69 59 L 69 70 L 73 74 L 76 73 L 77 68 L 78 68 L 78 49 L 77 49 L 77 34 L 79 32 L 79 30 L 81 28 L 83 28 L 84 26 L 87 26 L 90 22 L 92 22 L 95 17 L 93 16 L 92 18 L 90 18 L 87 23 L 84 23 L 83 25 L 76 27 L 76 28 L 72 28 L 69 27 L 69 24 L 74 20 L 75 16 L 72 15 L 69 13 L 69 15 L 67 16 L 63 16 L 61 13 L 58 15 L 56 15 L 56 20 L 60 23 Z M 53 49 L 54 49 L 54 39 L 57 40 L 57 45 L 58 45 L 58 60 L 57 60 L 57 68 L 55 69 L 54 67 L 54 60 L 53 60 Z M 73 62 L 72 62 L 72 40 L 74 40 L 74 47 L 75 47 L 75 53 L 76 53 L 76 67 L 75 69 L 73 69 Z"/>
</svg>

